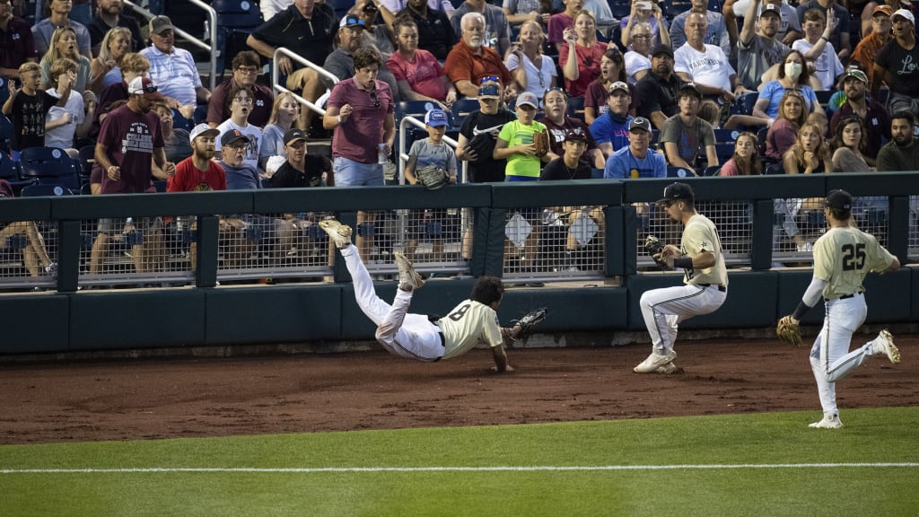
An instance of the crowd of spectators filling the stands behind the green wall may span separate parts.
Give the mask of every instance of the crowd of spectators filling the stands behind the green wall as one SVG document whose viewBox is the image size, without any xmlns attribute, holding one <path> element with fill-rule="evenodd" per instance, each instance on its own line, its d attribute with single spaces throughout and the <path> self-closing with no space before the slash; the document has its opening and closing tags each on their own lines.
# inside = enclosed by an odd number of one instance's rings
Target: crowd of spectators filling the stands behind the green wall
<svg viewBox="0 0 919 517">
<path fill-rule="evenodd" d="M 425 117 L 433 144 L 412 145 L 412 167 L 455 176 L 466 161 L 469 182 L 547 169 L 551 179 L 919 170 L 917 7 L 901 0 L 357 0 L 346 11 L 261 0 L 264 22 L 225 56 L 230 75 L 213 91 L 162 2 L 144 3 L 144 23 L 122 0 L 39 4 L 29 23 L 32 2 L 0 0 L 2 144 L 14 164 L 29 148 L 60 149 L 91 168 L 75 186 L 85 193 L 383 185 L 402 100 L 437 109 Z M 337 77 L 278 59 L 275 81 L 296 96 L 319 102 L 330 90 L 324 116 L 274 95 L 262 72 L 280 47 Z M 478 106 L 456 109 L 465 98 Z M 451 131 L 455 150 L 440 140 Z M 550 153 L 537 155 L 534 132 L 548 133 Z M 329 134 L 331 158 L 306 154 Z M 99 224 L 94 269 L 123 229 Z M 42 249 L 30 243 L 30 263 L 50 272 Z M 136 257 L 138 270 L 155 268 Z"/>
</svg>

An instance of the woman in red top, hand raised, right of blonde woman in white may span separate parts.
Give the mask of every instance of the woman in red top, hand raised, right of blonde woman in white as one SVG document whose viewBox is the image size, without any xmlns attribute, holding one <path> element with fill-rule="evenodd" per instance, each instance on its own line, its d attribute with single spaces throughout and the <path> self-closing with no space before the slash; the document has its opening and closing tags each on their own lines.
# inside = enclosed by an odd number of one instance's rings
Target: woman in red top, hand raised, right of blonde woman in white
<svg viewBox="0 0 919 517">
<path fill-rule="evenodd" d="M 600 60 L 607 52 L 607 44 L 596 40 L 594 13 L 579 12 L 573 29 L 565 29 L 564 40 L 559 64 L 565 75 L 565 91 L 571 97 L 584 97 L 587 86 L 600 75 Z"/>
</svg>

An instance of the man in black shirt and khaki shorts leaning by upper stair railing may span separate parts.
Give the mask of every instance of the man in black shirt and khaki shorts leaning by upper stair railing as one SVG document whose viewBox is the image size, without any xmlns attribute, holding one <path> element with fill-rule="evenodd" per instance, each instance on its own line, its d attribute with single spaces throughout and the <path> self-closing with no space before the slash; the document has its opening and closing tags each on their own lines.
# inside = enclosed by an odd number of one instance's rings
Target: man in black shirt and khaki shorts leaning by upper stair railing
<svg viewBox="0 0 919 517">
<path fill-rule="evenodd" d="M 286 47 L 290 52 L 322 66 L 325 56 L 332 52 L 332 37 L 338 25 L 335 11 L 326 3 L 315 0 L 294 0 L 292 6 L 278 12 L 249 35 L 245 43 L 255 52 L 273 59 L 275 50 Z M 278 57 L 278 70 L 287 75 L 287 87 L 301 91 L 303 98 L 315 102 L 322 95 L 326 85 L 312 68 L 296 70 L 288 56 Z M 312 109 L 301 110 L 301 129 L 308 129 L 312 122 Z"/>
</svg>

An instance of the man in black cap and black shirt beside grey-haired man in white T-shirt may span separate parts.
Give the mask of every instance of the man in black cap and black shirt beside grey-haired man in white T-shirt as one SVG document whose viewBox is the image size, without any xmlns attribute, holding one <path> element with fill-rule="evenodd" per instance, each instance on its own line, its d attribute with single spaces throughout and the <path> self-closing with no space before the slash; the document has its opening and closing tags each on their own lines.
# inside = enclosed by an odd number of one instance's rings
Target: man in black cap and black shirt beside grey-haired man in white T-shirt
<svg viewBox="0 0 919 517">
<path fill-rule="evenodd" d="M 635 88 L 639 92 L 637 116 L 654 124 L 654 129 L 664 127 L 664 121 L 679 110 L 677 93 L 683 81 L 674 74 L 674 51 L 666 45 L 657 45 L 651 52 L 651 71 L 644 75 Z"/>
</svg>

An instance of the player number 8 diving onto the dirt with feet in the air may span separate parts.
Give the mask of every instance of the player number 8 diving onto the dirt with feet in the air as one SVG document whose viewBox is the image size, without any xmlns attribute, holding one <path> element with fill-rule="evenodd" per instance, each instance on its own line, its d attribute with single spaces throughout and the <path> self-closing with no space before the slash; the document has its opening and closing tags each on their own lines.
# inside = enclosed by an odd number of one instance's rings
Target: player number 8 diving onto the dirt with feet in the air
<svg viewBox="0 0 919 517">
<path fill-rule="evenodd" d="M 417 361 L 437 362 L 466 353 L 482 342 L 492 348 L 493 371 L 514 371 L 507 364 L 504 339 L 515 339 L 521 327 L 498 326 L 495 311 L 504 294 L 500 279 L 480 278 L 469 300 L 459 303 L 448 316 L 431 321 L 428 316 L 408 312 L 412 293 L 425 285 L 425 281 L 402 253 L 394 254 L 399 268 L 399 289 L 392 304 L 387 304 L 377 296 L 357 247 L 351 245 L 351 227 L 335 219 L 320 221 L 319 226 L 332 237 L 335 247 L 345 258 L 347 270 L 354 280 L 357 304 L 377 325 L 376 339 L 387 351 Z"/>
</svg>

